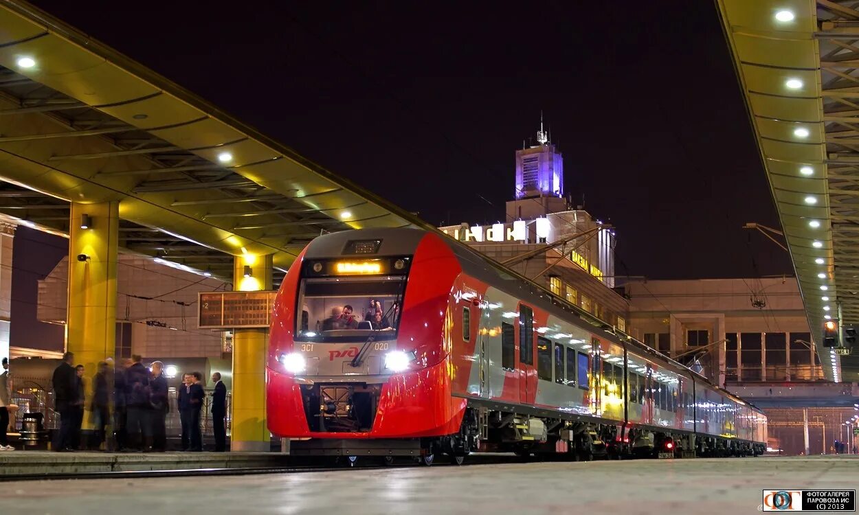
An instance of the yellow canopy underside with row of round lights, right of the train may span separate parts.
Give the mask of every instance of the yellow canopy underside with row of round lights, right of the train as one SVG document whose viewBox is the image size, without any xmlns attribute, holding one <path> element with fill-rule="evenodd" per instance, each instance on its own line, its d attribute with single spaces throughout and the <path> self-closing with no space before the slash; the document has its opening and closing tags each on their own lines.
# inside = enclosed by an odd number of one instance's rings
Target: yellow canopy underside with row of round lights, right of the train
<svg viewBox="0 0 859 515">
<path fill-rule="evenodd" d="M 825 377 L 856 382 L 821 336 L 859 324 L 859 2 L 716 3 Z"/>
</svg>

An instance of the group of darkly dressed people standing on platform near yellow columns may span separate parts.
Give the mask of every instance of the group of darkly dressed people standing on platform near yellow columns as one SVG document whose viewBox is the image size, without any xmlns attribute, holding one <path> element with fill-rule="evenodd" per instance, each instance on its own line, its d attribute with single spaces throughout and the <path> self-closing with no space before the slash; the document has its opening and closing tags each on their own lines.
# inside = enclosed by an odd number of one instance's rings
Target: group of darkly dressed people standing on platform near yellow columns
<svg viewBox="0 0 859 515">
<path fill-rule="evenodd" d="M 63 355 L 63 362 L 54 370 L 54 409 L 60 415 L 60 427 L 52 442 L 54 451 L 76 451 L 81 447 L 86 402 L 85 373 L 82 365 L 75 366 L 75 354 L 70 352 Z M 226 450 L 227 388 L 221 381 L 220 373 L 213 373 L 212 381 L 215 382 L 211 404 L 215 451 L 221 452 Z M 125 359 L 114 367 L 113 360 L 107 358 L 98 364 L 91 388 L 89 410 L 94 439 L 88 442 L 88 447 L 98 449 L 104 444 L 115 451 L 167 450 L 166 421 L 170 402 L 168 380 L 161 361 L 154 361 L 147 368 L 139 355 L 132 355 L 131 359 Z M 181 450 L 203 451 L 200 429 L 205 398 L 203 375 L 198 372 L 184 374 L 178 394 L 182 422 Z M 107 438 L 107 427 L 111 426 L 111 421 L 113 441 Z"/>
</svg>

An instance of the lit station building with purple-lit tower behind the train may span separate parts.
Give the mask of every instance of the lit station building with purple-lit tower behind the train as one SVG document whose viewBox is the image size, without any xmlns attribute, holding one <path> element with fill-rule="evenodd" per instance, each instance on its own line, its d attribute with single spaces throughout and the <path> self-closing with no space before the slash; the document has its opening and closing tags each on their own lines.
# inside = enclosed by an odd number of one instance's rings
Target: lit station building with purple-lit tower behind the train
<svg viewBox="0 0 859 515">
<path fill-rule="evenodd" d="M 537 141 L 515 153 L 514 199 L 506 205 L 504 221 L 440 229 L 606 324 L 626 330 L 629 303 L 612 289 L 614 230 L 581 206 L 570 205 L 563 157 L 542 124 Z"/>
</svg>

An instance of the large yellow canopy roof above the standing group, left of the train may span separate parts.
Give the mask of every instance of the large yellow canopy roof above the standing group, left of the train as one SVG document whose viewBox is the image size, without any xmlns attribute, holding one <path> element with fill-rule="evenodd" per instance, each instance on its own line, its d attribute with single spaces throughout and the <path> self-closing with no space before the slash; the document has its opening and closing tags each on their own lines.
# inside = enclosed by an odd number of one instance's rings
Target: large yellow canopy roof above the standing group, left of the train
<svg viewBox="0 0 859 515">
<path fill-rule="evenodd" d="M 117 201 L 121 246 L 228 280 L 242 248 L 284 270 L 320 233 L 429 228 L 23 2 L 0 4 L 0 179 L 27 225 Z"/>
</svg>

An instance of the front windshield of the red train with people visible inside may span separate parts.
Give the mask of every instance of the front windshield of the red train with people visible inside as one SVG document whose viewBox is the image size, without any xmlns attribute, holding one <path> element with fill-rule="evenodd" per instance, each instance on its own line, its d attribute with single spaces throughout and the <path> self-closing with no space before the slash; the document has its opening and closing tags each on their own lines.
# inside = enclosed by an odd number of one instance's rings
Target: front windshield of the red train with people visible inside
<svg viewBox="0 0 859 515">
<path fill-rule="evenodd" d="M 308 277 L 298 294 L 295 336 L 302 340 L 393 339 L 405 276 Z"/>
</svg>

